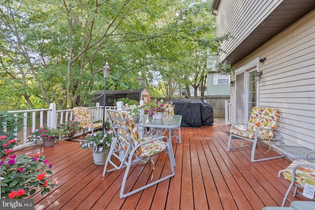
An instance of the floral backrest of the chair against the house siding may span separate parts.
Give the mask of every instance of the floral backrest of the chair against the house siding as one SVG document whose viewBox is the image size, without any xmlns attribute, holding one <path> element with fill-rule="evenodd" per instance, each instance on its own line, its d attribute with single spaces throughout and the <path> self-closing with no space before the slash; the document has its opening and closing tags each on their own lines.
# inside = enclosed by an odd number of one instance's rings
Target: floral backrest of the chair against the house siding
<svg viewBox="0 0 315 210">
<path fill-rule="evenodd" d="M 280 111 L 274 107 L 253 107 L 247 130 L 255 132 L 257 128 L 276 129 L 277 122 L 280 119 Z M 266 135 L 272 139 L 274 132 L 272 130 L 259 130 L 258 135 Z"/>
</svg>

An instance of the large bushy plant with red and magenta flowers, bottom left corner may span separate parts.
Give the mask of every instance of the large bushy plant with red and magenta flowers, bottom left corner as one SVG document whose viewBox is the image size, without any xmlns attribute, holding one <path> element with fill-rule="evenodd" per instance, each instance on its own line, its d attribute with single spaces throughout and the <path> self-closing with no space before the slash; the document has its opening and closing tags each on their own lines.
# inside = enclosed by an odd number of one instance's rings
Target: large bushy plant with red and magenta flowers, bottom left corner
<svg viewBox="0 0 315 210">
<path fill-rule="evenodd" d="M 1 198 L 24 198 L 40 189 L 41 195 L 58 186 L 55 180 L 47 179 L 53 174 L 52 164 L 47 164 L 40 153 L 11 155 L 0 162 Z"/>
</svg>

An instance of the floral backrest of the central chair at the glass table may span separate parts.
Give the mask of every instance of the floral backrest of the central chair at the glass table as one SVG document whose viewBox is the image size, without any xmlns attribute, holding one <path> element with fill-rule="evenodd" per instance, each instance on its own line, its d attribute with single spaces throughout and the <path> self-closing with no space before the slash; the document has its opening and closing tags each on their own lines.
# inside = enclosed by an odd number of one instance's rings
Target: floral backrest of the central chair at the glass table
<svg viewBox="0 0 315 210">
<path fill-rule="evenodd" d="M 133 120 L 128 118 L 125 111 L 107 109 L 108 120 L 114 131 L 115 137 L 118 138 L 121 147 L 124 150 L 132 150 L 136 145 L 140 144 L 138 128 Z M 140 156 L 141 147 L 136 150 L 136 154 Z"/>
</svg>

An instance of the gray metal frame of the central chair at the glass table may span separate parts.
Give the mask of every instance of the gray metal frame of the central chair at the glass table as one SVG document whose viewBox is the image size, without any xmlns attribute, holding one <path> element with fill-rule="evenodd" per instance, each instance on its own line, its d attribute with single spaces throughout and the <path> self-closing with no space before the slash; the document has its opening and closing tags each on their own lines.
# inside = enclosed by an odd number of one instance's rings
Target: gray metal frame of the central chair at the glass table
<svg viewBox="0 0 315 210">
<path fill-rule="evenodd" d="M 115 116 L 112 116 L 110 114 L 110 112 L 117 112 L 119 113 L 119 118 L 115 117 Z M 132 142 L 132 138 L 131 138 L 131 135 L 130 135 L 130 132 L 127 128 L 127 126 L 121 126 L 119 124 L 116 124 L 114 123 L 115 120 L 118 120 L 120 122 L 122 122 L 121 124 L 124 124 L 124 122 L 126 121 L 126 119 L 124 118 L 123 114 L 118 111 L 118 110 L 107 110 L 107 116 L 108 116 L 108 119 L 110 121 L 110 124 L 112 126 L 112 129 L 113 129 L 113 132 L 114 132 L 114 135 L 115 135 L 115 139 L 112 141 L 112 144 L 111 144 L 111 148 L 109 150 L 109 154 L 107 156 L 107 159 L 106 159 L 106 162 L 105 162 L 105 165 L 104 165 L 104 170 L 103 170 L 103 177 L 105 176 L 105 173 L 106 172 L 111 172 L 111 171 L 114 171 L 114 170 L 120 170 L 122 168 L 125 168 L 126 167 L 126 171 L 125 171 L 125 174 L 124 174 L 124 178 L 122 180 L 122 187 L 121 187 L 121 190 L 120 190 L 120 198 L 124 198 L 124 197 L 127 197 L 129 195 L 132 195 L 136 192 L 139 192 L 147 187 L 150 187 L 154 184 L 157 184 L 163 180 L 166 180 L 166 179 L 169 179 L 171 177 L 173 177 L 175 175 L 175 172 L 174 172 L 174 163 L 173 163 L 173 158 L 170 156 L 172 154 L 172 152 L 170 151 L 170 147 L 167 147 L 167 150 L 163 150 L 161 152 L 167 152 L 168 153 L 168 158 L 169 158 L 169 161 L 170 161 L 170 167 L 171 167 L 171 174 L 168 175 L 168 176 L 165 176 L 165 177 L 162 177 L 158 180 L 155 180 L 151 183 L 148 183 L 142 187 L 139 187 L 137 189 L 134 189 L 128 193 L 124 193 L 124 189 L 125 189 L 125 185 L 126 185 L 126 180 L 127 180 L 127 177 L 128 177 L 128 173 L 129 173 L 129 169 L 131 167 L 131 165 L 133 164 L 136 164 L 136 163 L 139 163 L 139 162 L 148 162 L 149 160 L 151 160 L 151 157 L 149 158 L 141 158 L 139 156 L 137 156 L 136 154 L 136 150 L 143 146 L 143 145 L 146 145 L 150 142 L 153 142 L 153 141 L 156 141 L 156 140 L 160 140 L 160 141 L 166 141 L 167 142 L 167 145 L 171 144 L 170 140 L 165 137 L 165 136 L 160 136 L 158 138 L 151 138 L 151 140 L 148 140 L 146 142 L 143 142 L 143 143 L 140 143 L 138 145 L 134 145 L 133 142 Z M 118 132 L 118 129 L 123 129 L 125 130 L 126 132 L 126 136 L 124 136 L 122 133 Z M 144 130 L 146 132 L 146 130 Z M 147 134 L 147 133 L 146 133 Z M 129 144 L 126 144 L 124 141 L 121 141 L 120 138 L 125 138 L 127 139 L 127 141 L 129 142 Z M 127 147 L 127 150 L 124 150 L 120 145 L 123 144 Z M 160 154 L 161 152 L 159 153 L 156 153 L 156 154 Z M 119 154 L 118 154 L 119 153 Z M 154 155 L 156 155 L 154 154 Z M 152 155 L 152 156 L 154 156 Z M 111 157 L 114 156 L 116 157 L 118 160 L 120 160 L 120 164 L 115 164 L 112 160 L 111 160 Z M 112 165 L 114 168 L 112 169 L 107 169 L 107 165 L 110 164 Z"/>
</svg>

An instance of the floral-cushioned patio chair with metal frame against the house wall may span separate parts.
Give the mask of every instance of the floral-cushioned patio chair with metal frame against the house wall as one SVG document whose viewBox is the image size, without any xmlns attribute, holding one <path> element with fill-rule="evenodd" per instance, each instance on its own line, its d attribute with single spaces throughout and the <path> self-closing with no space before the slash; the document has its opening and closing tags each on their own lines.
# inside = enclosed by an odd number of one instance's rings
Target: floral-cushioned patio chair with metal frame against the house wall
<svg viewBox="0 0 315 210">
<path fill-rule="evenodd" d="M 280 111 L 278 108 L 273 107 L 253 107 L 251 117 L 247 124 L 246 130 L 233 129 L 235 125 L 246 125 L 234 123 L 231 126 L 230 136 L 227 143 L 227 151 L 231 149 L 247 148 L 252 147 L 251 161 L 258 162 L 264 160 L 271 160 L 275 158 L 284 157 L 285 154 L 275 157 L 267 157 L 261 159 L 254 159 L 255 149 L 257 147 L 257 141 L 268 141 L 270 150 L 270 141 L 279 141 L 282 145 L 280 132 L 276 130 L 278 120 L 280 119 Z M 275 135 L 277 134 L 277 135 Z M 238 139 L 232 139 L 232 137 L 238 137 Z M 231 148 L 231 141 L 240 141 L 242 139 L 241 147 Z M 250 141 L 252 145 L 243 146 L 243 141 Z M 268 150 L 268 151 L 269 151 Z"/>
</svg>

